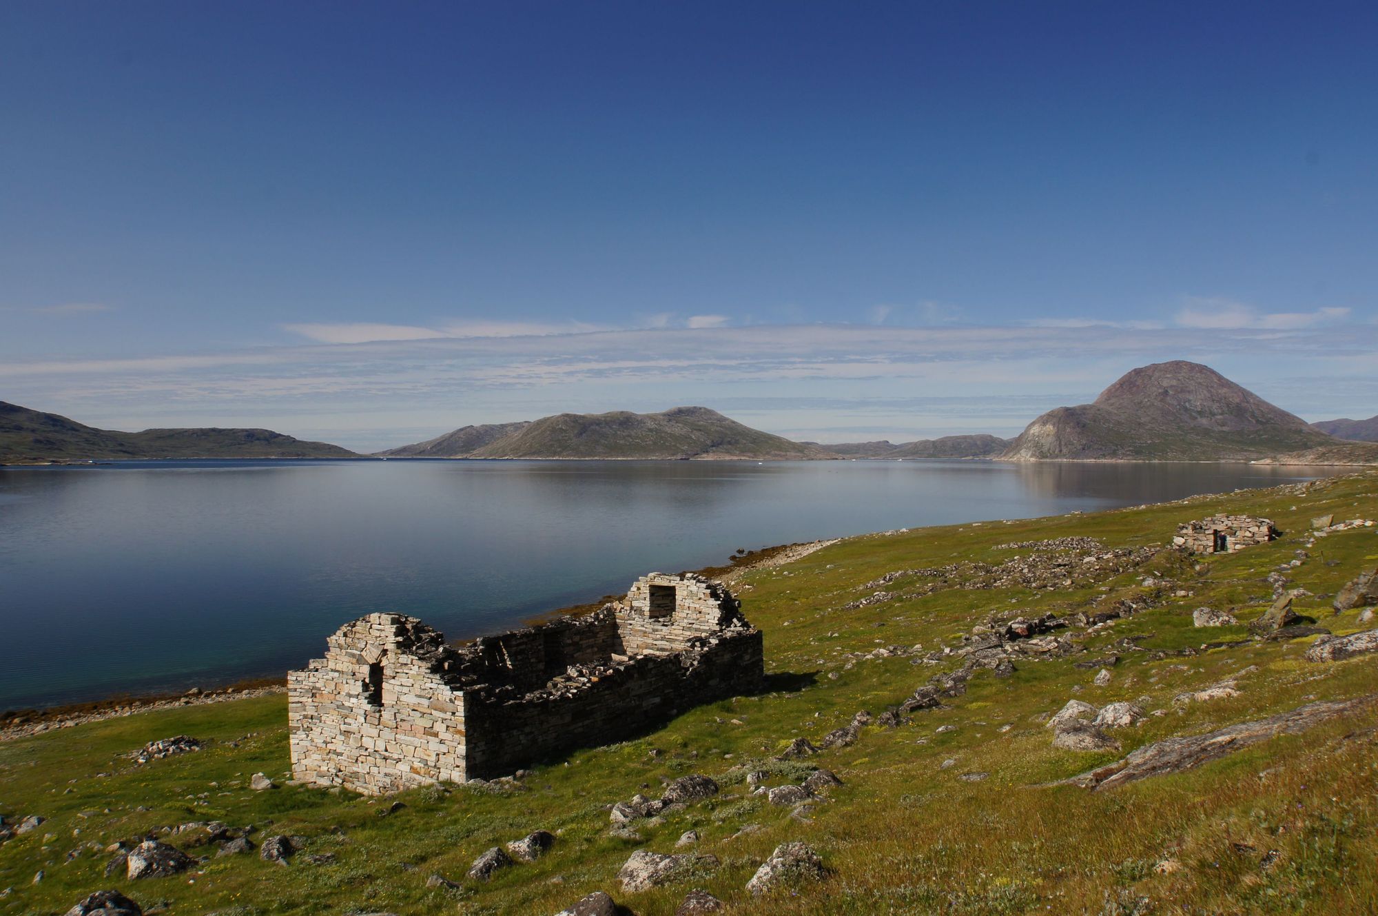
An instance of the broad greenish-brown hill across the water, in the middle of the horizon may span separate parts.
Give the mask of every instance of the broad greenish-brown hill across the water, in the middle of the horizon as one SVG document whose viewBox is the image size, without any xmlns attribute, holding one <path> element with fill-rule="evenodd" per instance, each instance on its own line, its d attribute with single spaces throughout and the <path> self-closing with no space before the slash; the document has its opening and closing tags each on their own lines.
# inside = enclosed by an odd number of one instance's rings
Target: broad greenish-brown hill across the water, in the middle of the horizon
<svg viewBox="0 0 1378 916">
<path fill-rule="evenodd" d="M 510 432 L 482 444 L 503 426 Z M 478 432 L 486 430 L 486 432 Z M 751 429 L 707 407 L 675 407 L 659 414 L 558 414 L 529 424 L 464 426 L 426 443 L 393 448 L 383 455 L 440 457 L 452 439 L 449 458 L 831 458 L 816 446 Z"/>
</svg>

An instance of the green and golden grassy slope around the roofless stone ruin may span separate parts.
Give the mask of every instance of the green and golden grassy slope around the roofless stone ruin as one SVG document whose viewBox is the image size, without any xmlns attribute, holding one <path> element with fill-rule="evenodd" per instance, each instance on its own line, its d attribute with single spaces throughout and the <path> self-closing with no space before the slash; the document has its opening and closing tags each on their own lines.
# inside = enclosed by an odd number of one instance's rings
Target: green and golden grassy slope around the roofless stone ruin
<svg viewBox="0 0 1378 916">
<path fill-rule="evenodd" d="M 949 708 L 919 712 L 893 730 L 872 726 L 854 746 L 813 757 L 846 785 L 834 790 L 832 803 L 820 806 L 812 824 L 791 819 L 787 808 L 743 797 L 744 788 L 736 785 L 661 826 L 642 828 L 645 840 L 638 844 L 608 836 L 604 806 L 642 786 L 657 786 L 660 777 L 693 771 L 721 777 L 751 756 L 774 753 L 791 737 L 819 738 L 858 709 L 879 713 L 949 665 L 885 658 L 849 668 L 843 653 L 878 644 L 922 643 L 925 650 L 952 644 L 992 611 L 1065 611 L 1138 596 L 1145 592 L 1138 574 L 1156 571 L 1178 577 L 1181 588 L 1195 595 L 1169 597 L 1162 607 L 1090 637 L 1086 644 L 1093 655 L 1130 635 L 1151 635 L 1142 640 L 1151 648 L 1242 639 L 1243 626 L 1193 629 L 1191 610 L 1237 606 L 1247 622 L 1266 604 L 1264 577 L 1293 559 L 1308 520 L 1322 512 L 1375 517 L 1375 491 L 1378 477 L 1359 476 L 1305 495 L 1258 491 L 1096 516 L 872 535 L 750 572 L 739 595 L 766 633 L 776 693 L 700 708 L 644 738 L 539 766 L 526 779 L 528 790 L 510 797 L 422 789 L 400 796 L 408 807 L 378 817 L 387 802 L 299 788 L 249 792 L 245 784 L 252 773 L 281 777 L 288 768 L 282 698 L 147 713 L 3 744 L 0 811 L 52 819 L 0 847 L 0 888 L 15 888 L 0 899 L 0 913 L 65 912 L 91 890 L 120 887 L 143 905 L 169 901 L 176 913 L 236 905 L 255 913 L 553 913 L 604 888 L 644 916 L 668 915 L 689 884 L 627 895 L 613 876 L 634 848 L 672 851 L 689 828 L 703 835 L 699 851 L 722 859 L 715 875 L 695 884 L 728 899 L 733 913 L 1129 913 L 1134 912 L 1130 901 L 1138 897 L 1148 897 L 1155 913 L 1374 912 L 1378 757 L 1371 734 L 1345 739 L 1356 727 L 1371 727 L 1371 716 L 1337 720 L 1188 774 L 1118 790 L 1038 788 L 1118 756 L 1050 746 L 1039 716 L 1073 695 L 1102 704 L 1146 694 L 1149 709 L 1170 710 L 1140 728 L 1118 731 L 1130 750 L 1312 699 L 1378 690 L 1378 657 L 1310 665 L 1301 659 L 1310 640 L 1251 643 L 1162 661 L 1123 653 L 1107 687 L 1091 684 L 1094 670 L 1073 668 L 1076 657 L 1024 662 L 1006 680 L 981 672 L 965 697 L 948 701 Z M 1024 552 L 995 550 L 994 545 L 1073 534 L 1094 535 L 1111 546 L 1162 544 L 1178 521 L 1222 509 L 1268 515 L 1287 534 L 1268 546 L 1211 559 L 1200 572 L 1164 555 L 1138 574 L 1105 582 L 1108 592 L 1096 586 L 1040 595 L 948 590 L 839 610 L 870 592 L 858 589 L 860 584 L 892 570 L 963 557 L 1003 559 Z M 1337 532 L 1317 541 L 1310 559 L 1290 575 L 1320 596 L 1335 592 L 1360 564 L 1375 559 L 1374 528 Z M 1357 629 L 1356 613 L 1333 617 L 1320 597 L 1304 599 L 1301 610 L 1338 633 Z M 1242 677 L 1236 698 L 1171 702 L 1186 688 L 1248 665 L 1258 670 Z M 943 724 L 956 731 L 937 734 Z M 1013 727 L 1000 733 L 1002 724 Z M 214 744 L 197 755 L 139 768 L 119 757 L 145 741 L 178 733 Z M 237 748 L 227 744 L 248 734 L 254 737 Z M 652 756 L 653 748 L 663 753 Z M 956 764 L 940 768 L 947 759 Z M 959 779 L 973 771 L 991 775 L 981 782 Z M 138 811 L 141 804 L 150 810 Z M 81 818 L 80 811 L 92 814 Z M 103 854 L 84 853 L 63 864 L 68 851 L 87 840 L 107 843 L 207 818 L 259 825 L 271 819 L 266 832 L 309 836 L 309 853 L 333 853 L 336 861 L 281 868 L 256 857 L 222 858 L 211 859 L 198 875 L 132 884 L 102 876 L 109 858 Z M 744 824 L 763 829 L 726 839 Z M 562 832 L 553 853 L 537 864 L 508 869 L 485 886 L 464 882 L 462 891 L 426 888 L 434 872 L 463 882 L 484 848 L 536 828 Z M 81 832 L 76 837 L 74 829 Z M 52 839 L 44 846 L 45 833 Z M 741 888 L 755 866 L 777 843 L 795 839 L 814 844 L 835 869 L 834 877 L 799 894 L 751 901 Z M 1264 869 L 1259 861 L 1271 850 L 1279 855 Z M 1163 859 L 1180 862 L 1181 869 L 1155 873 Z M 39 868 L 47 877 L 34 887 L 29 882 Z M 551 883 L 555 876 L 564 880 Z M 1126 906 L 1120 906 L 1122 894 Z"/>
</svg>

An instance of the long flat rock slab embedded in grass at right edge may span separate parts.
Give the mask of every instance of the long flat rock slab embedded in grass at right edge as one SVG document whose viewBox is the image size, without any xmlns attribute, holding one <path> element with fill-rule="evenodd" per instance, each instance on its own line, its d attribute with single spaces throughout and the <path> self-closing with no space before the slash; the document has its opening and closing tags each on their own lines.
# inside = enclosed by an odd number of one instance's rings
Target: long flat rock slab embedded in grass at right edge
<svg viewBox="0 0 1378 916">
<path fill-rule="evenodd" d="M 1135 779 L 1182 773 L 1282 734 L 1299 734 L 1308 728 L 1372 705 L 1378 694 L 1356 699 L 1315 702 L 1255 721 L 1243 721 L 1203 735 L 1167 738 L 1130 752 L 1122 760 L 1065 779 L 1087 789 L 1111 789 Z"/>
</svg>

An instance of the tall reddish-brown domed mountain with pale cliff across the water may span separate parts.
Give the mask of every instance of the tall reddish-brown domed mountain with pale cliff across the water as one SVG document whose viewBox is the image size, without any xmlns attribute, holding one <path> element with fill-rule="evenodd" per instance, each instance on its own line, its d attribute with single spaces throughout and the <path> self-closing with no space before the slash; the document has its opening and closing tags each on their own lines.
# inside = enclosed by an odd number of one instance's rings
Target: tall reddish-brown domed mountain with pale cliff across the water
<svg viewBox="0 0 1378 916">
<path fill-rule="evenodd" d="M 1043 414 L 1000 458 L 1251 461 L 1337 444 L 1215 370 L 1177 360 L 1127 372 L 1093 404 Z"/>
</svg>

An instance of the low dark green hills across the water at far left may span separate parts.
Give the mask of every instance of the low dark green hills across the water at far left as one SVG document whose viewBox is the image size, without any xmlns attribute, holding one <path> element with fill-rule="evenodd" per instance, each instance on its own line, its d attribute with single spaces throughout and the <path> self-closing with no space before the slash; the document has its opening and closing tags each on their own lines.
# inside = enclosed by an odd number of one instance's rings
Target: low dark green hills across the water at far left
<svg viewBox="0 0 1378 916">
<path fill-rule="evenodd" d="M 0 464 L 110 458 L 353 458 L 339 446 L 271 429 L 96 429 L 58 414 L 0 401 Z"/>
</svg>

